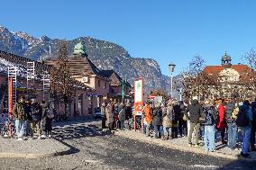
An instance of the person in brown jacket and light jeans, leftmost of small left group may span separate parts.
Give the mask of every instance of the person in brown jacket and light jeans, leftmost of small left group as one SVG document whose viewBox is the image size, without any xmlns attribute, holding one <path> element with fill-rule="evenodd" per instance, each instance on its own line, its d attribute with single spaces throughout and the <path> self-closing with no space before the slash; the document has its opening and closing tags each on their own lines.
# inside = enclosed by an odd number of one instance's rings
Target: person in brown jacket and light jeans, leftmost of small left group
<svg viewBox="0 0 256 170">
<path fill-rule="evenodd" d="M 23 136 L 25 133 L 25 126 L 27 121 L 27 113 L 26 113 L 26 105 L 25 105 L 25 96 L 21 95 L 19 97 L 18 103 L 14 104 L 13 113 L 15 118 L 15 127 L 18 136 L 18 140 L 23 140 Z"/>
</svg>

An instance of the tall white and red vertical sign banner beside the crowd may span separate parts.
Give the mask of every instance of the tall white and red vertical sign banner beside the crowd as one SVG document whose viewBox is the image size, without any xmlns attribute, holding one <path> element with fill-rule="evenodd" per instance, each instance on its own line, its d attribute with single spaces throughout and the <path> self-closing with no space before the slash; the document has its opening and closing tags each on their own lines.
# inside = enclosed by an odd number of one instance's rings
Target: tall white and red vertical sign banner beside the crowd
<svg viewBox="0 0 256 170">
<path fill-rule="evenodd" d="M 136 115 L 142 115 L 143 109 L 143 94 L 144 85 L 143 78 L 135 79 L 134 81 L 134 130 L 136 130 Z M 143 118 L 142 118 L 142 130 L 143 130 Z"/>
</svg>

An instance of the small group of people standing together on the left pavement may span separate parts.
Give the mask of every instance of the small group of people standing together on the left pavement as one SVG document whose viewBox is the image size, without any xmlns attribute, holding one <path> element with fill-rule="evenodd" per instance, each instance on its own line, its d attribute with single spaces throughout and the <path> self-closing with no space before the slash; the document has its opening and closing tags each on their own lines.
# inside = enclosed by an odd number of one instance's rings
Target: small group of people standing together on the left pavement
<svg viewBox="0 0 256 170">
<path fill-rule="evenodd" d="M 13 108 L 15 130 L 18 140 L 51 138 L 54 110 L 44 101 L 27 100 L 21 95 Z"/>
</svg>

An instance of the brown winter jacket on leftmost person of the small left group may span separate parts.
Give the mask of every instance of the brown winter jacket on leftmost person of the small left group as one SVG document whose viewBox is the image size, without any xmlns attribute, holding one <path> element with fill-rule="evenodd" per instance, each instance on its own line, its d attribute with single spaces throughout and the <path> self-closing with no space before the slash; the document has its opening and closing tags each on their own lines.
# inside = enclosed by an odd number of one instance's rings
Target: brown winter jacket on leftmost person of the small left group
<svg viewBox="0 0 256 170">
<path fill-rule="evenodd" d="M 27 106 L 25 103 L 15 103 L 14 104 L 14 118 L 15 120 L 26 121 L 27 120 Z"/>
</svg>

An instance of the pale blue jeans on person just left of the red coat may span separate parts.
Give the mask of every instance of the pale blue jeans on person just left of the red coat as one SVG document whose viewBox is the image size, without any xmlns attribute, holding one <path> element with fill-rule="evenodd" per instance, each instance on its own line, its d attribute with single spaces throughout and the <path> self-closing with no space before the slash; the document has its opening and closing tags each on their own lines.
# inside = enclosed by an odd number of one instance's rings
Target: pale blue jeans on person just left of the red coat
<svg viewBox="0 0 256 170">
<path fill-rule="evenodd" d="M 204 143 L 207 151 L 215 150 L 215 125 L 205 125 Z"/>
</svg>

